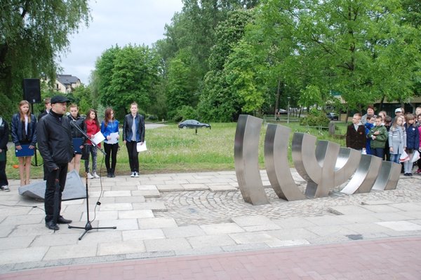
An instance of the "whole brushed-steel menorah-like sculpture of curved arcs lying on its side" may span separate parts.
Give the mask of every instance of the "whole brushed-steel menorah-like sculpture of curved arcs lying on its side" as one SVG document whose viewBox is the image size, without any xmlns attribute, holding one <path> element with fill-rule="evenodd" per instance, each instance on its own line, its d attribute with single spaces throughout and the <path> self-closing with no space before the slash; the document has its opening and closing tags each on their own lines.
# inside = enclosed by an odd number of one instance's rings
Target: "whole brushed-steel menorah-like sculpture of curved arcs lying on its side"
<svg viewBox="0 0 421 280">
<path fill-rule="evenodd" d="M 234 140 L 236 176 L 243 199 L 254 205 L 269 200 L 262 186 L 258 166 L 258 146 L 262 119 L 241 115 Z M 330 190 L 349 180 L 342 193 L 368 193 L 393 190 L 399 180 L 400 165 L 382 162 L 372 155 L 361 155 L 350 148 L 340 148 L 330 141 L 318 141 L 309 134 L 295 133 L 292 157 L 298 174 L 307 181 L 305 194 L 296 185 L 288 165 L 290 128 L 267 126 L 265 167 L 276 195 L 283 200 L 327 197 Z M 353 175 L 354 174 L 354 175 Z"/>
</svg>

